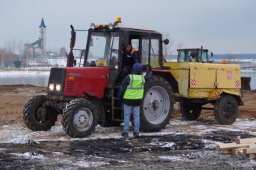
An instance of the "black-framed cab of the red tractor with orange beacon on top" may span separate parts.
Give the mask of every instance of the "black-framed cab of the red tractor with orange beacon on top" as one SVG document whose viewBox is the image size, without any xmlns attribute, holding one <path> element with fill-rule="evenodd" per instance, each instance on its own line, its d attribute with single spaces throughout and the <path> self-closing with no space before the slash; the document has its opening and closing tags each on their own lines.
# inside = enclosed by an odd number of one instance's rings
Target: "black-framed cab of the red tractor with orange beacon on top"
<svg viewBox="0 0 256 170">
<path fill-rule="evenodd" d="M 125 45 L 132 44 L 137 52 L 138 60 L 144 69 L 159 69 L 162 67 L 162 37 L 161 33 L 152 28 L 120 25 L 121 18 L 114 23 L 96 25 L 92 23 L 87 35 L 86 49 L 82 50 L 79 64 L 68 56 L 67 66 L 73 67 L 107 67 L 110 77 L 109 86 L 114 86 L 123 69 L 122 52 Z M 75 31 L 72 30 L 70 53 L 75 44 Z M 168 41 L 165 41 L 168 42 Z M 81 62 L 83 61 L 83 62 Z M 70 63 L 71 62 L 71 63 Z"/>
</svg>

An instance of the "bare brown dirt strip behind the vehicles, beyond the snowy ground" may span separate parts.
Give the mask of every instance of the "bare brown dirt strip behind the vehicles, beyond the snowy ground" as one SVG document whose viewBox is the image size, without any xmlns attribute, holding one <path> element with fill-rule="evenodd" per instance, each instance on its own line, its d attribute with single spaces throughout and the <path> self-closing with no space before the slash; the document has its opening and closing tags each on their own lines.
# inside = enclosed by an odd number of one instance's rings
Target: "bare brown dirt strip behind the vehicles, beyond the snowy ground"
<svg viewBox="0 0 256 170">
<path fill-rule="evenodd" d="M 23 123 L 23 106 L 32 96 L 46 94 L 46 87 L 31 85 L 0 86 L 0 125 Z M 256 90 L 243 91 L 245 106 L 239 107 L 238 118 L 256 118 Z M 175 104 L 174 118 L 179 119 L 178 103 Z M 213 107 L 210 104 L 206 107 Z M 213 111 L 202 111 L 200 118 L 213 116 Z"/>
</svg>

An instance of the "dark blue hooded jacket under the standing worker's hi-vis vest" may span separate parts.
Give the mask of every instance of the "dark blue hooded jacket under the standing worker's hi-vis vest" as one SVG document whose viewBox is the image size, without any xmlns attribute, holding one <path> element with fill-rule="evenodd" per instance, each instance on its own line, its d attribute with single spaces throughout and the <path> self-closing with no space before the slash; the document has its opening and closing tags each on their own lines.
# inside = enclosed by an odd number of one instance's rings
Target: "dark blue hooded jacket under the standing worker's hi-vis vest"
<svg viewBox="0 0 256 170">
<path fill-rule="evenodd" d="M 140 75 L 140 74 L 142 74 L 142 69 L 143 69 L 142 64 L 136 63 L 132 67 L 132 74 L 139 74 Z M 145 84 L 151 79 L 151 77 L 152 77 L 152 72 L 151 71 L 147 72 L 147 74 L 145 76 Z M 126 91 L 127 86 L 129 86 L 129 83 L 130 83 L 130 78 L 129 78 L 129 75 L 128 75 L 127 77 L 125 77 L 123 79 L 121 85 L 119 86 L 119 93 L 118 93 L 119 101 L 122 101 L 122 98 L 124 96 L 124 92 Z M 142 99 L 129 100 L 129 101 L 124 100 L 123 103 L 127 104 L 129 106 L 140 106 L 142 104 Z"/>
</svg>

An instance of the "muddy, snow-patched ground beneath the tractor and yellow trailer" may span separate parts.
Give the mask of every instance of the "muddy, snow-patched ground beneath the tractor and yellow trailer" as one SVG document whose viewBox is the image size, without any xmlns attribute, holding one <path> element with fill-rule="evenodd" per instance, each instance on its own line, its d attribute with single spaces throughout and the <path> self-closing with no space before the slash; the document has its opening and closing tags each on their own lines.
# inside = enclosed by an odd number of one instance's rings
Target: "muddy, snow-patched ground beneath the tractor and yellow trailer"
<svg viewBox="0 0 256 170">
<path fill-rule="evenodd" d="M 197 121 L 174 118 L 161 132 L 120 137 L 122 128 L 97 126 L 87 138 L 73 139 L 58 122 L 50 131 L 33 132 L 23 124 L 27 99 L 45 87 L 0 86 L 0 169 L 256 169 L 256 160 L 223 154 L 220 142 L 256 136 L 256 91 L 245 91 L 233 125 L 218 125 L 212 111 Z M 130 131 L 132 136 L 132 129 Z"/>
</svg>

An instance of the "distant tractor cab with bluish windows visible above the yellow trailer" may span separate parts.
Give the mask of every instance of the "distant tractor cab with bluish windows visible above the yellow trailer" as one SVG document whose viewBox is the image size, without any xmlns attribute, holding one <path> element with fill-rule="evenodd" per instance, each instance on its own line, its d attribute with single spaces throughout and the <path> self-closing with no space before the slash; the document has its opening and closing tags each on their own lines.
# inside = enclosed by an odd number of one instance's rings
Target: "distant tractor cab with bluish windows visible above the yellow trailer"
<svg viewBox="0 0 256 170">
<path fill-rule="evenodd" d="M 208 50 L 202 48 L 182 48 L 177 49 L 177 62 L 210 62 Z M 210 53 L 213 56 L 213 53 Z"/>
</svg>

